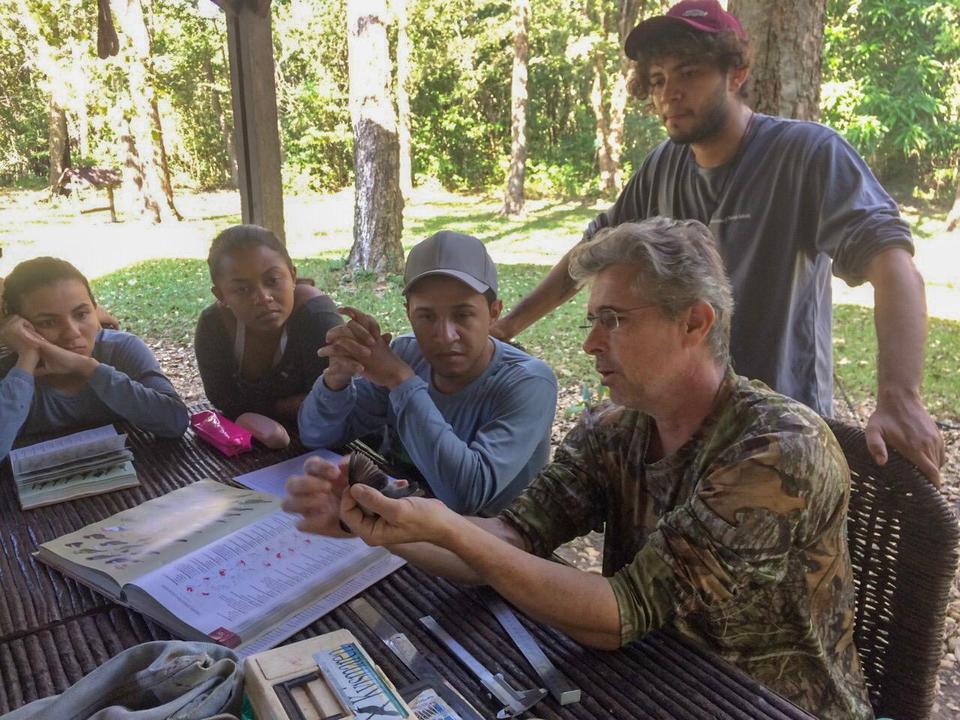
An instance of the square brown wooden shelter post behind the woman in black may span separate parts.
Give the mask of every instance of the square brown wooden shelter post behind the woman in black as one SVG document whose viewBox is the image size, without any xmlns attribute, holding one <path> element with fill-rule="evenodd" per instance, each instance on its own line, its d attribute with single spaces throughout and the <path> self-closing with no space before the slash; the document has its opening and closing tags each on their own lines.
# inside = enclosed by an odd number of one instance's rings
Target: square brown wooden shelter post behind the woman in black
<svg viewBox="0 0 960 720">
<path fill-rule="evenodd" d="M 226 11 L 234 144 L 244 223 L 286 242 L 270 0 L 214 0 Z"/>
</svg>

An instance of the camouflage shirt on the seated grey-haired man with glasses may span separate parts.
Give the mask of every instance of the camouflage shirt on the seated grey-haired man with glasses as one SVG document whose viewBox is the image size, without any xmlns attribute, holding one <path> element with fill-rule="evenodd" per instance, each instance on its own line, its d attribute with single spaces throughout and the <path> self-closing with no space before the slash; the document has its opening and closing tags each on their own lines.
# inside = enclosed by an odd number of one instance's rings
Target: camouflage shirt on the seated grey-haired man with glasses
<svg viewBox="0 0 960 720">
<path fill-rule="evenodd" d="M 809 408 L 729 373 L 687 443 L 647 462 L 649 416 L 583 414 L 501 517 L 536 554 L 605 532 L 621 643 L 669 627 L 821 718 L 872 718 L 853 645 L 850 473 Z"/>
</svg>

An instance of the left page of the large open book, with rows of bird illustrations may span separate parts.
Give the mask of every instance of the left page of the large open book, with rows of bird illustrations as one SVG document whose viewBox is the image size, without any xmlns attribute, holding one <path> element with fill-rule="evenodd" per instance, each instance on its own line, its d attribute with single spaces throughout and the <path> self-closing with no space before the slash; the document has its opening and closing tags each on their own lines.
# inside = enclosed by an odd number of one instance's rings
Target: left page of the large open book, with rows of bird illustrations
<svg viewBox="0 0 960 720">
<path fill-rule="evenodd" d="M 74 576 L 83 568 L 106 574 L 122 587 L 279 506 L 263 493 L 200 480 L 44 543 L 39 558 Z"/>
</svg>

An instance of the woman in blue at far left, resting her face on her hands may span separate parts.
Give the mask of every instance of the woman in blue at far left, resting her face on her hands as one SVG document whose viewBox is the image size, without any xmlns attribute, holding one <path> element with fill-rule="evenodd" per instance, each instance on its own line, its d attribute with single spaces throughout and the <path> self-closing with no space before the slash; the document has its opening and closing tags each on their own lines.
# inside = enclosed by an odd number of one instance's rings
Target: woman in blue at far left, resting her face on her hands
<svg viewBox="0 0 960 720">
<path fill-rule="evenodd" d="M 0 459 L 20 435 L 127 420 L 163 437 L 187 408 L 140 338 L 104 330 L 90 284 L 70 263 L 22 262 L 7 276 L 0 340 Z"/>
</svg>

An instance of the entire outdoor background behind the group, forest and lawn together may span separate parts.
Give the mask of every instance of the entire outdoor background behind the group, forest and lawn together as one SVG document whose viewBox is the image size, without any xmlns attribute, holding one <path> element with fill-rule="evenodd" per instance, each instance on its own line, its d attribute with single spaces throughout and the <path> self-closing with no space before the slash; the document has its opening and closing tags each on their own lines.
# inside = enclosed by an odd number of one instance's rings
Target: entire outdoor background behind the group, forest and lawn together
<svg viewBox="0 0 960 720">
<path fill-rule="evenodd" d="M 353 90 L 385 99 L 397 118 L 394 182 L 399 175 L 407 202 L 393 228 L 402 228 L 406 246 L 443 227 L 481 237 L 501 264 L 508 307 L 663 138 L 644 104 L 628 101 L 631 64 L 621 48 L 637 21 L 668 2 L 258 2 L 273 24 L 291 253 L 338 301 L 371 290 L 365 302 L 391 331 L 405 327 L 395 276 L 351 272 L 357 228 L 370 223 L 351 222 L 359 211 L 349 205 L 355 196 L 383 194 L 351 192 L 358 135 L 348 49 L 369 49 L 348 42 L 355 40 L 351 8 L 386 29 L 383 77 L 368 76 L 362 88 L 354 82 Z M 752 81 L 755 94 L 766 93 L 760 105 L 778 107 L 772 95 L 779 93 L 780 105 L 789 105 L 783 114 L 835 127 L 904 203 L 937 316 L 925 396 L 938 418 L 960 418 L 960 323 L 953 321 L 960 319 L 960 275 L 953 236 L 942 232 L 960 216 L 958 199 L 943 222 L 960 183 L 960 0 L 730 4 L 745 22 L 759 23 L 751 31 L 762 55 Z M 112 36 L 104 17 L 115 26 Z M 107 56 L 111 43 L 117 52 Z M 526 213 L 514 207 L 503 217 L 518 164 L 521 56 L 519 187 L 527 205 Z M 239 221 L 228 65 L 224 14 L 210 0 L 0 3 L 0 246 L 7 246 L 0 275 L 26 257 L 61 255 L 99 278 L 100 299 L 125 327 L 189 349 L 195 318 L 210 302 L 197 260 L 216 232 Z M 772 82 L 771 67 L 780 70 Z M 374 148 L 367 157 L 389 154 Z M 122 176 L 121 222 L 81 214 L 103 204 L 102 192 L 55 192 L 64 168 L 84 166 Z M 137 220 L 144 224 L 134 229 Z M 401 238 L 394 240 L 402 262 Z M 869 401 L 875 385 L 870 314 L 854 307 L 871 298 L 868 289 L 837 283 L 835 293 L 838 387 L 854 405 Z M 542 350 L 572 388 L 593 378 L 571 330 L 579 314 L 574 303 L 520 338 Z"/>
</svg>

